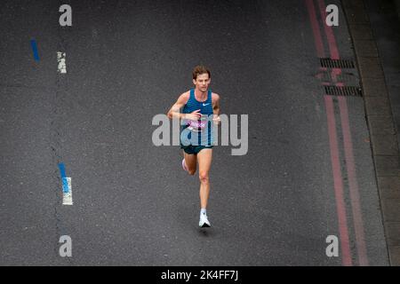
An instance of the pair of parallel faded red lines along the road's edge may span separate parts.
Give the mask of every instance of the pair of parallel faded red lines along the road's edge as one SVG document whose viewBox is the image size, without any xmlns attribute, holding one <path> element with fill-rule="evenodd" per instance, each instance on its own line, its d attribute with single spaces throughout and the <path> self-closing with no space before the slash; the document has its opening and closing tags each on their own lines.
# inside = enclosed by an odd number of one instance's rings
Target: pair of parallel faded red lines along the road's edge
<svg viewBox="0 0 400 284">
<path fill-rule="evenodd" d="M 308 8 L 308 15 L 313 30 L 316 54 L 319 58 L 325 58 L 323 36 L 321 35 L 320 25 L 316 18 L 316 6 L 314 0 L 305 0 Z M 329 54 L 331 59 L 340 59 L 339 49 L 336 44 L 335 36 L 332 27 L 325 24 L 326 19 L 326 5 L 324 0 L 316 0 L 317 8 L 319 9 L 321 19 L 324 26 L 324 34 L 329 46 Z M 326 71 L 326 68 L 324 69 Z M 337 76 L 340 75 L 341 70 L 338 68 L 332 69 L 332 81 L 337 86 L 343 86 L 343 83 L 337 82 Z M 346 159 L 346 170 L 348 174 L 348 188 L 351 202 L 351 210 L 353 215 L 354 230 L 356 236 L 356 251 L 358 255 L 359 265 L 368 265 L 368 258 L 366 254 L 366 247 L 364 241 L 364 225 L 363 217 L 360 207 L 360 197 L 358 191 L 358 184 L 356 179 L 356 167 L 354 162 L 353 144 L 351 139 L 350 124 L 348 120 L 348 104 L 344 97 L 338 97 L 340 107 L 340 124 L 343 135 L 343 146 Z M 338 215 L 339 232 L 340 232 L 340 248 L 341 259 L 343 265 L 353 265 L 351 257 L 351 249 L 348 236 L 348 217 L 344 201 L 344 186 L 340 170 L 340 155 L 339 155 L 339 142 L 336 132 L 336 120 L 333 111 L 333 100 L 331 96 L 324 95 L 324 102 L 326 108 L 326 116 L 328 122 L 329 145 L 331 151 L 332 161 L 332 174 L 333 185 L 335 191 L 336 209 Z"/>
</svg>

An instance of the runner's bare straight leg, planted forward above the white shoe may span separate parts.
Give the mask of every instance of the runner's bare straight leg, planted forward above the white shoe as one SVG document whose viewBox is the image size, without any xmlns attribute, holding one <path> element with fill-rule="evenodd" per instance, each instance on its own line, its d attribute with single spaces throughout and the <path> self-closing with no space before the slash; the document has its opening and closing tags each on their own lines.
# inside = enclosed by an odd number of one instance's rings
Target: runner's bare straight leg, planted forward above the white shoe
<svg viewBox="0 0 400 284">
<path fill-rule="evenodd" d="M 202 149 L 197 154 L 197 162 L 198 177 L 200 179 L 200 205 L 202 209 L 206 209 L 208 196 L 210 194 L 209 172 L 212 164 L 212 149 Z"/>
</svg>

